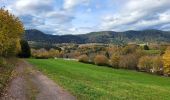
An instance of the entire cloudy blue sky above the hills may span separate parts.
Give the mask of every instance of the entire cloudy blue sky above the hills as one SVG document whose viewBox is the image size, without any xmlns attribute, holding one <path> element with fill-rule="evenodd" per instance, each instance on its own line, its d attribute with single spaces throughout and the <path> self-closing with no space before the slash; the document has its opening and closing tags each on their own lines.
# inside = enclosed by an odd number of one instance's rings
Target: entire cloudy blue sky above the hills
<svg viewBox="0 0 170 100">
<path fill-rule="evenodd" d="M 25 29 L 47 34 L 170 30 L 170 0 L 0 0 Z"/>
</svg>

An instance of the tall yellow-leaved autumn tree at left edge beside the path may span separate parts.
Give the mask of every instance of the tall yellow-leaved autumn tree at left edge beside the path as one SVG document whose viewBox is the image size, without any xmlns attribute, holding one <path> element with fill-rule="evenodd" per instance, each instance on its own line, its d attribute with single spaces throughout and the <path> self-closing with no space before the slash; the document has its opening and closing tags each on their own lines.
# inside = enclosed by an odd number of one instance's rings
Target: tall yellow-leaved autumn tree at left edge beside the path
<svg viewBox="0 0 170 100">
<path fill-rule="evenodd" d="M 13 56 L 20 50 L 20 38 L 24 33 L 21 21 L 0 8 L 0 56 Z"/>
</svg>

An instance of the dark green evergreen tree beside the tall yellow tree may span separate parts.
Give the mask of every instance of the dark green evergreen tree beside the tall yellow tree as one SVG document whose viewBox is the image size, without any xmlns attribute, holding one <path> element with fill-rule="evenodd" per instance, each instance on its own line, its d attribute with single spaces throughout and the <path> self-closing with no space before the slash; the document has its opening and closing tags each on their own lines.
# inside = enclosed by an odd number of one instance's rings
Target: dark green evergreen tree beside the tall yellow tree
<svg viewBox="0 0 170 100">
<path fill-rule="evenodd" d="M 18 56 L 21 58 L 29 58 L 31 56 L 30 46 L 27 41 L 21 40 L 21 51 L 19 52 Z"/>
</svg>

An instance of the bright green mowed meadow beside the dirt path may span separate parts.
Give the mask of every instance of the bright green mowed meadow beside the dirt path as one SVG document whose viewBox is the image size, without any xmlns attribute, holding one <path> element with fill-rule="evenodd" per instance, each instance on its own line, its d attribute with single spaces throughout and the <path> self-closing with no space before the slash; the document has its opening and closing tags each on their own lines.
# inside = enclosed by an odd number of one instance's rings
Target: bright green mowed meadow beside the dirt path
<svg viewBox="0 0 170 100">
<path fill-rule="evenodd" d="M 170 78 L 62 59 L 28 59 L 78 100 L 170 100 Z"/>
</svg>

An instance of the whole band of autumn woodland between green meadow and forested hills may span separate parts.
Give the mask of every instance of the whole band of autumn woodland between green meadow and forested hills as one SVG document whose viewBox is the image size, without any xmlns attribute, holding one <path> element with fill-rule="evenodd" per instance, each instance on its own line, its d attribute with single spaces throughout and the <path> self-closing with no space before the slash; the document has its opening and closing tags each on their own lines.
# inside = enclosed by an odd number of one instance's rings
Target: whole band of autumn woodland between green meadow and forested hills
<svg viewBox="0 0 170 100">
<path fill-rule="evenodd" d="M 32 49 L 35 58 L 72 58 L 79 62 L 170 75 L 170 49 L 166 45 L 77 45 L 57 49 Z"/>
</svg>

